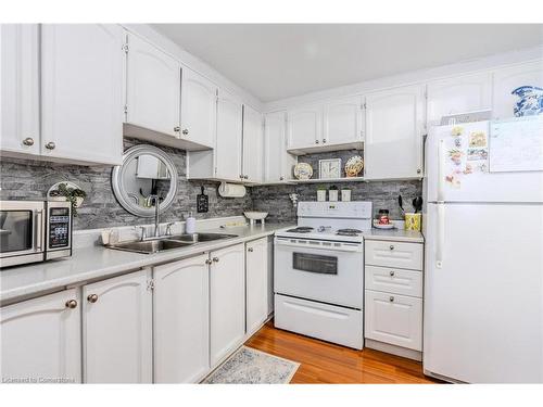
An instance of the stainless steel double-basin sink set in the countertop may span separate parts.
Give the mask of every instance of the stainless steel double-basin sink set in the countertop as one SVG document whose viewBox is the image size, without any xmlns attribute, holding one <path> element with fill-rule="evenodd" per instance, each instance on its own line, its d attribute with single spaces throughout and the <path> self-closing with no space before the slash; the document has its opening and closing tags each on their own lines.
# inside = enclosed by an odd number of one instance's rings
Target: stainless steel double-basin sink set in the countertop
<svg viewBox="0 0 543 407">
<path fill-rule="evenodd" d="M 227 233 L 174 234 L 142 241 L 106 244 L 105 247 L 134 253 L 152 254 L 173 249 L 186 247 L 201 242 L 212 242 L 214 240 L 231 239 L 237 237 L 237 234 Z"/>
</svg>

